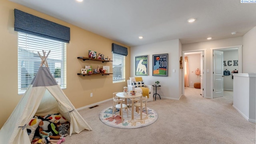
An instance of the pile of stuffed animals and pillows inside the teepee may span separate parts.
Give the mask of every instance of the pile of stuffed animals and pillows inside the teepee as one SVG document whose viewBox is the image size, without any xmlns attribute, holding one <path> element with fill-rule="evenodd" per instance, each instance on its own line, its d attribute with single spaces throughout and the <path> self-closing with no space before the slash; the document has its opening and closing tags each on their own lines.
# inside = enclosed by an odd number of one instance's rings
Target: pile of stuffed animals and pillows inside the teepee
<svg viewBox="0 0 256 144">
<path fill-rule="evenodd" d="M 69 134 L 69 128 L 70 122 L 57 113 L 34 116 L 27 126 L 27 132 L 31 144 L 60 144 Z"/>
</svg>

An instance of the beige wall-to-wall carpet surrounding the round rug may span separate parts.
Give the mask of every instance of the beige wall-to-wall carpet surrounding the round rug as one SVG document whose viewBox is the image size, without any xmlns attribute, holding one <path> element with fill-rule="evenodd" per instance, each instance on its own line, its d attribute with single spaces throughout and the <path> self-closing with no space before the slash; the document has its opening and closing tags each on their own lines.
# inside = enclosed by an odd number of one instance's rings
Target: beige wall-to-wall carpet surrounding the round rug
<svg viewBox="0 0 256 144">
<path fill-rule="evenodd" d="M 180 100 L 162 98 L 148 102 L 158 113 L 150 126 L 136 129 L 103 124 L 99 113 L 112 101 L 80 110 L 92 131 L 67 136 L 63 144 L 255 144 L 255 123 L 248 122 L 232 107 L 232 96 L 206 99 L 200 89 L 185 88 Z"/>
</svg>

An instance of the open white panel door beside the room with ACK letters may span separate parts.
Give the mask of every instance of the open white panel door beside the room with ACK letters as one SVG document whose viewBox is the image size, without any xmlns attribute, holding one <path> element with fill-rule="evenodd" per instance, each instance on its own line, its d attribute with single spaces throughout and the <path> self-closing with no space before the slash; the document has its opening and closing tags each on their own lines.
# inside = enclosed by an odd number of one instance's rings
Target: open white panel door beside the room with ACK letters
<svg viewBox="0 0 256 144">
<path fill-rule="evenodd" d="M 213 51 L 213 98 L 223 96 L 223 52 Z"/>
</svg>

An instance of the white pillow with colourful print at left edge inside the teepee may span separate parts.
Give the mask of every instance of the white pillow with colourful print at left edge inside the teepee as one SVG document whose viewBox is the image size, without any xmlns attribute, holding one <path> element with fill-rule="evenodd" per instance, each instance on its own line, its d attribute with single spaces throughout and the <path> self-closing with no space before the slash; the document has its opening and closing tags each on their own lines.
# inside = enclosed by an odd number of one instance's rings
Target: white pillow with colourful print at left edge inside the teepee
<svg viewBox="0 0 256 144">
<path fill-rule="evenodd" d="M 32 142 L 32 140 L 34 138 L 36 128 L 38 127 L 40 121 L 41 120 L 38 118 L 32 118 L 30 120 L 30 122 L 28 123 L 28 125 L 26 126 L 30 142 Z"/>
</svg>

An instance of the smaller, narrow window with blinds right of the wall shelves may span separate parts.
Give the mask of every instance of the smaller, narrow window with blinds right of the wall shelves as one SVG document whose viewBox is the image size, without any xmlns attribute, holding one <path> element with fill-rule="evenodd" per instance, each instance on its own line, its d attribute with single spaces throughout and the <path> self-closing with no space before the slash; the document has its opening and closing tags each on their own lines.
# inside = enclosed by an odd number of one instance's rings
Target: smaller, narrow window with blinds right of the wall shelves
<svg viewBox="0 0 256 144">
<path fill-rule="evenodd" d="M 113 83 L 125 82 L 125 56 L 113 54 Z"/>
</svg>

